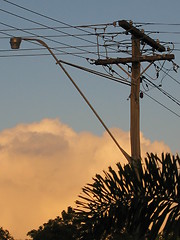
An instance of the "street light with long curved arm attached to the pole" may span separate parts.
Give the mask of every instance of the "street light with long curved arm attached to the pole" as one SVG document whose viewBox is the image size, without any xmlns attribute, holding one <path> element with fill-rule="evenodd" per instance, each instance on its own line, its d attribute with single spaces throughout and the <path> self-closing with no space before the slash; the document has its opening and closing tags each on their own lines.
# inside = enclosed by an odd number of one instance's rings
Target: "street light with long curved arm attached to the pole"
<svg viewBox="0 0 180 240">
<path fill-rule="evenodd" d="M 107 133 L 110 135 L 110 137 L 112 138 L 112 140 L 114 141 L 114 143 L 116 144 L 116 146 L 119 148 L 119 150 L 122 152 L 122 154 L 125 156 L 125 158 L 127 159 L 127 161 L 132 164 L 132 159 L 129 156 L 129 154 L 119 145 L 119 143 L 117 142 L 117 140 L 115 139 L 115 137 L 113 136 L 113 134 L 111 133 L 111 131 L 109 130 L 109 128 L 106 126 L 106 124 L 104 123 L 104 121 L 101 119 L 101 117 L 99 116 L 99 114 L 96 112 L 96 110 L 93 108 L 93 106 L 90 104 L 90 102 L 88 101 L 88 99 L 86 98 L 86 96 L 84 95 L 84 93 L 81 91 L 81 89 L 78 87 L 78 85 L 74 82 L 74 80 L 72 79 L 72 77 L 69 75 L 69 73 L 66 71 L 66 69 L 64 68 L 64 66 L 61 64 L 61 62 L 57 59 L 57 57 L 55 56 L 55 54 L 52 52 L 52 50 L 50 49 L 50 47 L 41 39 L 38 38 L 22 38 L 22 37 L 12 37 L 10 39 L 10 45 L 12 49 L 19 49 L 22 40 L 24 41 L 35 41 L 38 42 L 39 44 L 41 44 L 42 46 L 44 46 L 45 48 L 47 48 L 47 50 L 50 52 L 50 54 L 53 56 L 53 58 L 56 61 L 56 64 L 58 64 L 60 66 L 60 68 L 63 70 L 63 72 L 66 74 L 66 76 L 69 78 L 69 80 L 72 82 L 72 84 L 74 85 L 74 87 L 77 89 L 77 91 L 79 92 L 79 94 L 82 96 L 82 98 L 85 100 L 85 102 L 87 103 L 87 105 L 90 107 L 90 109 L 93 111 L 93 113 L 95 114 L 95 116 L 97 117 L 97 119 L 100 121 L 100 123 L 102 124 L 102 126 L 105 128 L 105 130 L 107 131 Z"/>
</svg>

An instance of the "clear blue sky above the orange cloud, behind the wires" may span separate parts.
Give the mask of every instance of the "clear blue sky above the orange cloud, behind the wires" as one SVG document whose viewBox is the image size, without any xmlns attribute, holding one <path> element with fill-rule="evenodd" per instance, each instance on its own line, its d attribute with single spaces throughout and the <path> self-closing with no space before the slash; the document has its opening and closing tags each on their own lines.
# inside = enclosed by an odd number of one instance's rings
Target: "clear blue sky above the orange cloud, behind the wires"
<svg viewBox="0 0 180 240">
<path fill-rule="evenodd" d="M 13 1 L 25 8 L 35 10 L 69 25 L 88 25 L 98 23 L 112 23 L 126 19 L 133 22 L 180 23 L 179 1 Z M 27 17 L 51 27 L 57 23 L 28 13 L 11 4 L 1 1 L 3 10 Z M 2 22 L 16 28 L 38 27 L 31 22 L 0 12 Z M 59 24 L 60 26 L 60 24 Z M 178 31 L 180 26 L 145 25 L 149 31 Z M 1 29 L 8 27 L 1 24 Z M 118 29 L 120 30 L 120 29 Z M 1 32 L 2 33 L 2 32 Z M 12 32 L 8 32 L 12 34 Z M 72 30 L 73 33 L 73 30 Z M 13 33 L 14 34 L 14 33 Z M 25 35 L 16 31 L 14 35 Z M 38 34 L 38 32 L 36 32 Z M 1 34 L 1 36 L 5 36 Z M 178 34 L 152 34 L 162 41 L 179 40 Z M 130 36 L 129 36 L 130 39 Z M 8 50 L 9 40 L 1 39 L 1 50 Z M 63 39 L 64 42 L 66 40 Z M 67 40 L 69 41 L 69 40 Z M 94 38 L 96 41 L 96 38 Z M 48 42 L 50 46 L 51 43 Z M 72 42 L 70 42 L 72 44 Z M 178 48 L 179 45 L 175 47 Z M 33 47 L 23 43 L 22 48 Z M 179 52 L 173 52 L 175 62 L 179 64 Z M 10 54 L 9 52 L 7 54 Z M 4 52 L 1 52 L 4 55 Z M 91 67 L 86 60 L 73 56 L 62 56 L 61 59 L 79 65 Z M 10 128 L 18 123 L 39 121 L 43 118 L 60 118 L 77 131 L 92 131 L 101 134 L 102 127 L 91 111 L 83 102 L 76 90 L 69 83 L 62 71 L 55 65 L 50 56 L 44 57 L 1 57 L 1 94 L 0 94 L 0 129 Z M 130 102 L 127 100 L 130 88 L 121 84 L 106 81 L 97 76 L 76 69 L 67 68 L 74 80 L 82 88 L 108 127 L 119 127 L 129 130 Z M 104 71 L 101 67 L 96 70 Z M 155 75 L 152 67 L 150 74 Z M 121 70 L 119 70 L 121 74 Z M 170 72 L 177 81 L 179 73 Z M 163 75 L 162 75 L 163 77 Z M 163 80 L 163 89 L 176 98 L 179 97 L 179 85 L 166 77 Z M 149 91 L 155 99 L 161 101 L 171 110 L 180 113 L 179 106 L 161 96 L 158 90 Z M 172 151 L 179 149 L 179 117 L 167 111 L 155 101 L 144 97 L 141 100 L 141 131 L 154 140 L 163 140 Z"/>
</svg>

